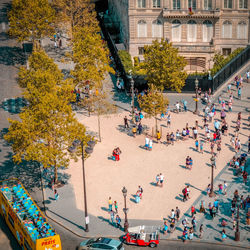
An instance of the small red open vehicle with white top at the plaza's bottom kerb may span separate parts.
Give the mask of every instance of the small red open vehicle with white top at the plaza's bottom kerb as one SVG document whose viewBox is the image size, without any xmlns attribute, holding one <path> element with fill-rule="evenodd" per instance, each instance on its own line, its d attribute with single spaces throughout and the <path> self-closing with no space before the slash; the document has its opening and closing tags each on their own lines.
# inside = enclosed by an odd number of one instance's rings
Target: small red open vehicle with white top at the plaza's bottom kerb
<svg viewBox="0 0 250 250">
<path fill-rule="evenodd" d="M 159 228 L 151 226 L 130 227 L 123 237 L 126 244 L 149 247 L 157 247 L 159 239 Z"/>
</svg>

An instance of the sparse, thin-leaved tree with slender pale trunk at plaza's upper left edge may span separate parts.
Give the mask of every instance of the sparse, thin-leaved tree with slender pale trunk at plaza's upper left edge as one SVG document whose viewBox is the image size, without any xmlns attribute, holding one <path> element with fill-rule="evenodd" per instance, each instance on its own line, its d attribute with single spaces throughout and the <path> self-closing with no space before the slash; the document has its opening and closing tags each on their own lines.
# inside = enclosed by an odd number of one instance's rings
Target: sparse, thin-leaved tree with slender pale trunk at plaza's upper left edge
<svg viewBox="0 0 250 250">
<path fill-rule="evenodd" d="M 103 88 L 95 89 L 95 92 L 89 98 L 84 99 L 81 105 L 87 106 L 90 112 L 97 115 L 98 135 L 101 142 L 101 116 L 116 112 L 116 106 L 110 102 L 109 96 Z"/>
</svg>

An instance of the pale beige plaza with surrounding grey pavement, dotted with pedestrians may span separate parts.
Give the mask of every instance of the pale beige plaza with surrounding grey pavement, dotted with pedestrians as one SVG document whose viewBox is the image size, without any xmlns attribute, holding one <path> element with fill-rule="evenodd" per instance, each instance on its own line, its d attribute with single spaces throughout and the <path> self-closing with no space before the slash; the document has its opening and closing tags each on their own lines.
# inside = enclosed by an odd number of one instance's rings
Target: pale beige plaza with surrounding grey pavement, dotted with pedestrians
<svg viewBox="0 0 250 250">
<path fill-rule="evenodd" d="M 247 67 L 243 69 L 245 72 Z M 113 78 L 113 82 L 115 79 Z M 114 227 L 110 221 L 108 212 L 108 197 L 111 196 L 113 201 L 118 202 L 118 214 L 124 219 L 122 208 L 123 196 L 121 189 L 126 186 L 128 190 L 127 206 L 129 207 L 129 224 L 136 225 L 154 225 L 162 228 L 163 219 L 168 219 L 172 208 L 178 206 L 181 210 L 181 216 L 187 216 L 192 204 L 199 206 L 201 200 L 205 200 L 206 206 L 209 200 L 204 195 L 204 190 L 210 183 L 211 165 L 210 165 L 210 146 L 208 143 L 204 146 L 204 154 L 196 152 L 195 141 L 189 138 L 185 141 L 179 141 L 174 146 L 166 146 L 166 133 L 180 131 L 186 126 L 194 126 L 195 120 L 199 125 L 203 125 L 202 117 L 194 115 L 191 111 L 194 109 L 193 96 L 191 94 L 170 94 L 170 106 L 174 107 L 176 100 L 183 98 L 188 100 L 189 112 L 187 113 L 171 113 L 171 127 L 167 128 L 166 120 L 158 120 L 159 129 L 162 131 L 162 143 L 154 143 L 153 150 L 144 149 L 145 133 L 152 134 L 152 127 L 155 126 L 154 119 L 143 119 L 142 124 L 145 128 L 143 135 L 132 136 L 131 129 L 124 129 L 123 118 L 126 115 L 130 117 L 130 100 L 125 93 L 118 93 L 114 89 L 113 83 L 107 79 L 106 89 L 111 93 L 111 98 L 118 106 L 118 114 L 109 115 L 101 118 L 101 134 L 102 142 L 98 142 L 94 148 L 93 154 L 85 161 L 86 179 L 87 179 L 87 199 L 88 211 L 90 215 L 90 233 L 89 235 L 106 235 L 120 236 L 123 234 L 121 230 Z M 234 95 L 236 91 L 233 90 Z M 227 100 L 227 93 L 222 88 L 214 96 L 216 102 L 218 95 Z M 246 143 L 249 134 L 248 109 L 249 109 L 249 85 L 244 83 L 242 100 L 234 101 L 233 111 L 243 112 L 243 126 L 239 138 L 242 143 Z M 179 99 L 181 98 L 181 99 Z M 199 103 L 200 112 L 204 108 Z M 220 117 L 220 107 L 217 106 L 216 118 Z M 217 216 L 213 221 L 208 216 L 197 215 L 198 225 L 203 223 L 206 225 L 205 234 L 202 241 L 221 241 L 221 228 L 218 226 L 221 216 L 228 220 L 228 242 L 235 244 L 233 240 L 234 232 L 230 228 L 230 218 L 228 218 L 229 200 L 232 199 L 232 193 L 236 188 L 241 188 L 241 181 L 237 181 L 233 176 L 232 170 L 228 169 L 228 162 L 235 152 L 230 146 L 230 139 L 235 129 L 235 121 L 237 112 L 227 113 L 227 122 L 229 124 L 229 135 L 222 138 L 222 151 L 217 156 L 217 168 L 215 169 L 215 189 L 217 190 L 218 182 L 224 179 L 229 183 L 229 191 L 226 197 L 219 198 L 221 204 L 221 215 Z M 92 135 L 97 135 L 97 117 L 88 114 L 84 110 L 76 113 L 78 119 L 83 122 L 87 130 Z M 213 123 L 210 128 L 213 129 Z M 199 139 L 204 139 L 204 129 L 199 128 Z M 115 162 L 111 159 L 111 153 L 115 147 L 122 150 L 121 160 Z M 193 169 L 185 169 L 185 158 L 189 155 L 194 161 Z M 155 176 L 163 173 L 165 176 L 163 188 L 155 186 Z M 68 228 L 79 235 L 84 233 L 84 203 L 83 203 L 83 183 L 81 161 L 71 162 L 70 167 L 60 172 L 60 177 L 66 181 L 66 185 L 59 189 L 60 199 L 58 202 L 53 200 L 53 192 L 49 188 L 45 188 L 45 205 L 49 216 L 57 221 L 65 224 Z M 47 181 L 44 179 L 46 186 Z M 181 190 L 185 185 L 191 187 L 191 199 L 188 202 L 182 202 Z M 143 198 L 139 204 L 135 203 L 135 193 L 138 185 L 143 187 Z M 249 186 L 248 186 L 249 187 Z M 242 189 L 243 190 L 243 189 Z M 245 193 L 244 193 L 245 192 Z M 247 189 L 242 192 L 246 195 Z M 225 203 L 227 201 L 227 203 Z M 230 207 L 229 207 L 230 209 Z M 247 238 L 248 229 L 245 226 L 245 217 L 241 216 L 241 242 L 236 243 L 246 245 L 249 241 Z M 79 220 L 79 218 L 81 218 Z M 122 220 L 123 223 L 123 220 Z M 161 235 L 161 238 L 179 239 L 182 235 L 182 227 L 177 225 L 176 231 L 170 235 Z M 194 240 L 197 240 L 196 236 Z M 200 239 L 199 239 L 200 240 Z"/>
</svg>

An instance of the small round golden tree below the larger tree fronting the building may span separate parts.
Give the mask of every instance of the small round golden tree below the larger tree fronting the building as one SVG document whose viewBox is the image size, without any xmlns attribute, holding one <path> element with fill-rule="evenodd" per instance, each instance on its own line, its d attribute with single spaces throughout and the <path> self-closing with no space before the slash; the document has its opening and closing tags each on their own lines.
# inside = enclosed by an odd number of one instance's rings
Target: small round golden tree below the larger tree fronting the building
<svg viewBox="0 0 250 250">
<path fill-rule="evenodd" d="M 153 84 L 150 85 L 150 89 L 147 95 L 139 96 L 139 106 L 143 112 L 146 113 L 146 117 L 155 118 L 155 129 L 157 127 L 157 115 L 163 113 L 167 109 L 168 99 L 163 95 L 163 88 L 157 89 Z"/>
</svg>

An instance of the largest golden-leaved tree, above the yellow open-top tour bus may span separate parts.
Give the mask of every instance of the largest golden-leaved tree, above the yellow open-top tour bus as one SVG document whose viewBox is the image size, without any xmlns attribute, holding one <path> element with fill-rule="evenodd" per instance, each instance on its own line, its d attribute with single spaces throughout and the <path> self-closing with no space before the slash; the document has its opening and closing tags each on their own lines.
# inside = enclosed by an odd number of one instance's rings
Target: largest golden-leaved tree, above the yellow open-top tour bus
<svg viewBox="0 0 250 250">
<path fill-rule="evenodd" d="M 12 143 L 14 162 L 25 159 L 38 161 L 45 168 L 54 167 L 57 182 L 58 167 L 67 167 L 71 158 L 77 159 L 77 152 L 68 152 L 73 141 L 87 144 L 90 138 L 69 105 L 70 87 L 62 82 L 56 65 L 51 65 L 55 71 L 43 65 L 44 56 L 44 52 L 34 52 L 30 58 L 31 68 L 22 79 L 29 105 L 20 113 L 20 121 L 9 120 L 11 125 L 4 138 Z M 40 67 L 38 58 L 42 58 Z"/>
</svg>

